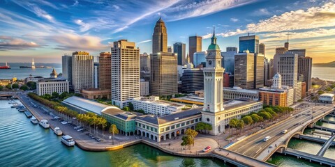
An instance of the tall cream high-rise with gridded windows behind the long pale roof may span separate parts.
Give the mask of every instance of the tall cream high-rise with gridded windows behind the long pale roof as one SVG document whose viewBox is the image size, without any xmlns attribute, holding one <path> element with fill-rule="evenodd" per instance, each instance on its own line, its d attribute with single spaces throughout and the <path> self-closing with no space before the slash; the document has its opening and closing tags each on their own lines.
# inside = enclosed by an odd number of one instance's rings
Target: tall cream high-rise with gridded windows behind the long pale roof
<svg viewBox="0 0 335 167">
<path fill-rule="evenodd" d="M 112 104 L 121 109 L 140 96 L 140 49 L 135 42 L 119 40 L 113 43 Z"/>
</svg>

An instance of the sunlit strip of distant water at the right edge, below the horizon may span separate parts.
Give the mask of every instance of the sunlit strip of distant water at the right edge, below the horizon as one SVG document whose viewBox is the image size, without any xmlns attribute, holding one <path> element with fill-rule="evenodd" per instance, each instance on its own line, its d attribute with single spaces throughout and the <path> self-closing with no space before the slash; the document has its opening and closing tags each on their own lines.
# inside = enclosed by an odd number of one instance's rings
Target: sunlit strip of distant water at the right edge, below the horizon
<svg viewBox="0 0 335 167">
<path fill-rule="evenodd" d="M 335 81 L 335 67 L 312 67 L 312 77 L 324 79 L 327 81 Z"/>
</svg>

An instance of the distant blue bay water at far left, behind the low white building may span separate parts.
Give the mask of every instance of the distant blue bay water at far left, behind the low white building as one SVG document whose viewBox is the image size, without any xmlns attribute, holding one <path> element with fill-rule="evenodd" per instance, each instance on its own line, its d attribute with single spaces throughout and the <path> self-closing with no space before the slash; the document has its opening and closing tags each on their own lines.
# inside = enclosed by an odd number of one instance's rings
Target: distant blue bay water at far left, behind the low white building
<svg viewBox="0 0 335 167">
<path fill-rule="evenodd" d="M 54 68 L 56 72 L 61 73 L 61 67 Z M 16 77 L 17 79 L 25 79 L 31 74 L 33 77 L 50 77 L 52 68 L 20 68 L 20 67 L 11 67 L 8 70 L 0 70 L 0 79 L 12 79 Z"/>
</svg>

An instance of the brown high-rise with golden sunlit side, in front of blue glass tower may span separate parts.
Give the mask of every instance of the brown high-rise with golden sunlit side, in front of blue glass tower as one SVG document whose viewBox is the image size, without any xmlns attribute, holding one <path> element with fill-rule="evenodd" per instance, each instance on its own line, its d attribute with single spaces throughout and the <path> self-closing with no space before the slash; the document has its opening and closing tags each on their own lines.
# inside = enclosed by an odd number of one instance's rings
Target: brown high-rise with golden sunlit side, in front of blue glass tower
<svg viewBox="0 0 335 167">
<path fill-rule="evenodd" d="M 253 89 L 255 81 L 255 54 L 245 51 L 235 54 L 234 86 Z"/>
</svg>

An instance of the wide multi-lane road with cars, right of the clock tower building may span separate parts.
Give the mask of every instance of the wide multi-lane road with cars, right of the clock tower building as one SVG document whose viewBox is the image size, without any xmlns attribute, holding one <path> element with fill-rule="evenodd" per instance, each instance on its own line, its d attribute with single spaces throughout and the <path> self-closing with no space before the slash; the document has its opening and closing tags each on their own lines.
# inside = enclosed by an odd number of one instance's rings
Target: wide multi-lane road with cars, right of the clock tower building
<svg viewBox="0 0 335 167">
<path fill-rule="evenodd" d="M 297 127 L 297 125 L 306 122 L 307 120 L 311 120 L 312 116 L 315 118 L 315 116 L 319 116 L 324 111 L 329 111 L 330 109 L 334 109 L 334 105 L 319 104 L 318 106 L 315 106 L 315 104 L 307 104 L 305 108 L 301 109 L 300 113 L 290 116 L 290 118 L 287 118 L 282 122 L 278 122 L 278 124 L 271 126 L 266 130 L 260 131 L 240 143 L 232 145 L 228 148 L 228 150 L 244 154 L 248 157 L 256 158 L 263 150 L 269 148 L 271 143 L 283 136 L 283 130 L 288 129 L 287 133 L 290 133 L 290 130 Z M 311 116 L 308 116 L 307 114 L 311 114 Z M 297 115 L 300 116 L 296 118 Z M 263 139 L 266 136 L 271 136 L 271 138 L 269 141 L 265 142 Z"/>
</svg>

